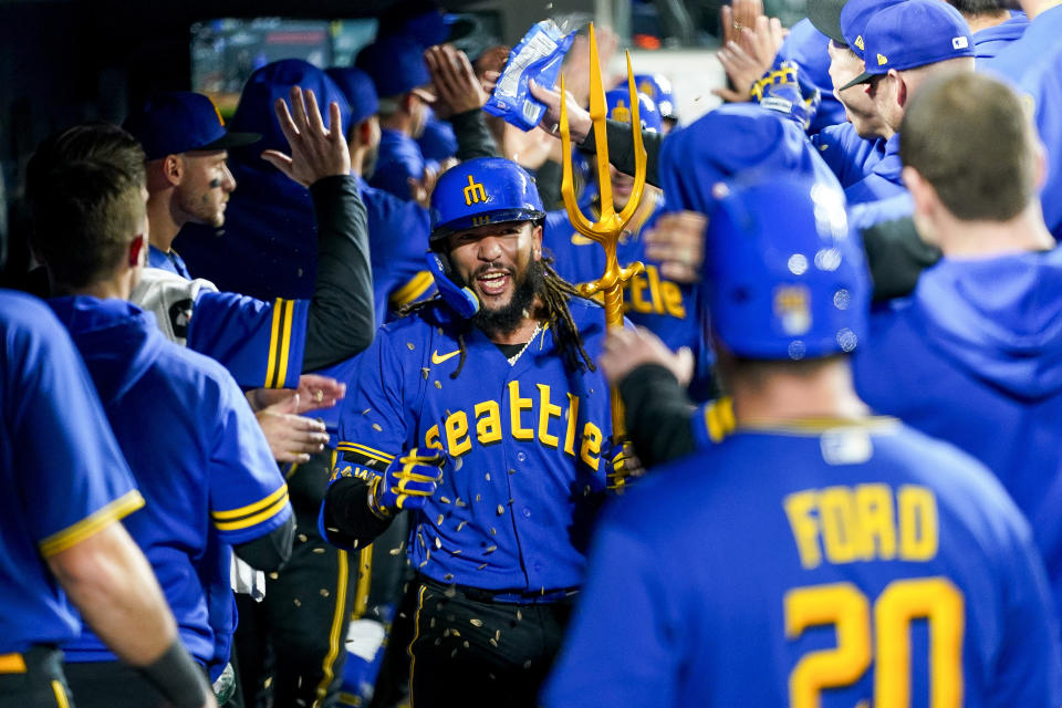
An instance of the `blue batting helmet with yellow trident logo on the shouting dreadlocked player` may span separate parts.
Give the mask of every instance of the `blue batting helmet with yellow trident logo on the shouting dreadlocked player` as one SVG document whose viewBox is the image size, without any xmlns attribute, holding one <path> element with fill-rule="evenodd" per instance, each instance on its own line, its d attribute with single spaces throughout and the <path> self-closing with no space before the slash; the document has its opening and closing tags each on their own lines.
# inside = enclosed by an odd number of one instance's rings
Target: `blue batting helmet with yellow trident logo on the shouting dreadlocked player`
<svg viewBox="0 0 1062 708">
<path fill-rule="evenodd" d="M 451 167 L 431 192 L 431 241 L 487 223 L 543 218 L 534 179 L 501 157 L 479 157 Z"/>
</svg>

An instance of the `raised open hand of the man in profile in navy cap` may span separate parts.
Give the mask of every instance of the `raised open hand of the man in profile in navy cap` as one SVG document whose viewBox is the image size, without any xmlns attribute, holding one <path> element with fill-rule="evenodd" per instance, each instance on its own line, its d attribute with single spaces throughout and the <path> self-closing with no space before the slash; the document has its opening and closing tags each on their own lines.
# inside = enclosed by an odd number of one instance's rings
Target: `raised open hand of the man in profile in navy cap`
<svg viewBox="0 0 1062 708">
<path fill-rule="evenodd" d="M 351 174 L 351 154 L 343 133 L 340 104 L 329 106 L 329 125 L 324 127 L 317 98 L 312 91 L 291 87 L 291 110 L 283 98 L 274 104 L 280 129 L 288 138 L 291 155 L 280 150 L 266 150 L 262 159 L 284 173 L 303 187 L 334 175 Z M 294 114 L 292 114 L 294 112 Z"/>
</svg>

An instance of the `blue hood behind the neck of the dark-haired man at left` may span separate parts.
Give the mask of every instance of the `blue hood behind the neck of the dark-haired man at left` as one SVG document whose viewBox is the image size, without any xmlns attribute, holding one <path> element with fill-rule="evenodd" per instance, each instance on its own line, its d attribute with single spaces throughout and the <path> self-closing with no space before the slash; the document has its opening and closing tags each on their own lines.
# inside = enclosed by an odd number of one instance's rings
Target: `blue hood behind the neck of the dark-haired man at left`
<svg viewBox="0 0 1062 708">
<path fill-rule="evenodd" d="M 158 356 L 155 315 L 125 300 L 87 295 L 49 300 L 70 332 L 104 405 L 121 398 Z"/>
</svg>

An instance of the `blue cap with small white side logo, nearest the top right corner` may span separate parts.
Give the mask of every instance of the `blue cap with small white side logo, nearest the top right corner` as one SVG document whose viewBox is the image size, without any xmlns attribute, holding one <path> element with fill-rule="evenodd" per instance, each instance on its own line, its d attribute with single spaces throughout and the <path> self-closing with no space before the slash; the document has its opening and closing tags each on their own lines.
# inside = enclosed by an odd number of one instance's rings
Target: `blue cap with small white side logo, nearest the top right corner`
<svg viewBox="0 0 1062 708">
<path fill-rule="evenodd" d="M 904 71 L 960 56 L 974 56 L 970 25 L 940 0 L 905 0 L 874 13 L 863 33 L 864 71 L 846 83 L 863 84 L 888 70 Z"/>
</svg>

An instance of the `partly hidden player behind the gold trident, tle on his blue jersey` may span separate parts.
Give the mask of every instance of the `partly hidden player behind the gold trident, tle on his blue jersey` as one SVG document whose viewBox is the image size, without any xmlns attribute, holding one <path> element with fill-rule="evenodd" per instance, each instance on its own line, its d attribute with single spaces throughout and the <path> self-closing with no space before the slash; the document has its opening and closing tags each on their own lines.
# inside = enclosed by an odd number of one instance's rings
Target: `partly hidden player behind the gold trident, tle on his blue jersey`
<svg viewBox="0 0 1062 708">
<path fill-rule="evenodd" d="M 659 133 L 660 114 L 647 96 L 638 94 L 639 117 L 643 131 Z M 614 88 L 605 94 L 608 117 L 622 123 L 631 122 L 627 106 L 629 96 L 626 88 Z M 596 170 L 595 170 L 596 171 Z M 622 209 L 631 196 L 634 177 L 625 175 L 612 165 L 607 179 L 612 180 L 613 202 Z M 596 184 L 596 178 L 591 179 Z M 595 197 L 590 206 L 592 214 L 600 212 Z M 710 376 L 711 353 L 701 344 L 701 327 L 697 309 L 697 288 L 693 283 L 677 283 L 660 273 L 659 261 L 648 259 L 643 235 L 653 228 L 656 218 L 665 208 L 664 192 L 653 186 L 646 186 L 637 211 L 620 237 L 616 258 L 621 264 L 642 261 L 645 272 L 624 284 L 624 314 L 635 324 L 655 332 L 673 350 L 688 347 L 699 363 L 698 391 L 705 387 Z M 553 254 L 553 267 L 565 280 L 585 283 L 597 279 L 605 268 L 605 252 L 600 246 L 580 235 L 568 219 L 566 211 L 553 211 L 546 215 L 542 232 L 542 246 Z"/>
</svg>

